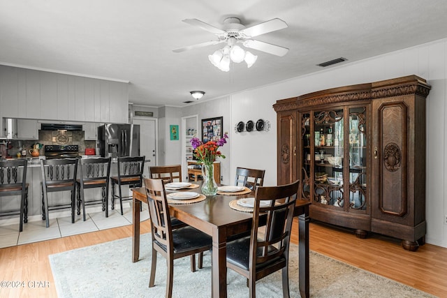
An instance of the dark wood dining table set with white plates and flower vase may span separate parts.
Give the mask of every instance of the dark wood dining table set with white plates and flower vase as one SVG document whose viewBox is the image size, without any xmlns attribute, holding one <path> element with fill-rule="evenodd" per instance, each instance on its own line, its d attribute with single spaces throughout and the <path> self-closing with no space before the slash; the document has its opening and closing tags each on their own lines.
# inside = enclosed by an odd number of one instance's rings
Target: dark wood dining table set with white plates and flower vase
<svg viewBox="0 0 447 298">
<path fill-rule="evenodd" d="M 200 183 L 198 182 L 194 182 Z M 247 188 L 248 189 L 248 188 Z M 200 192 L 196 189 L 185 191 Z M 220 192 L 219 192 L 220 193 Z M 230 202 L 240 198 L 253 198 L 254 191 L 244 195 L 220 193 L 207 195 L 201 202 L 192 204 L 169 204 L 171 216 L 191 225 L 212 237 L 212 297 L 227 297 L 226 292 L 226 241 L 228 237 L 251 230 L 253 214 L 237 211 Z M 167 194 L 169 192 L 167 191 Z M 145 188 L 133 188 L 133 233 L 132 262 L 140 257 L 140 206 L 147 203 Z M 309 204 L 307 200 L 297 200 L 294 216 L 298 216 L 298 276 L 301 297 L 309 297 Z M 290 281 L 294 282 L 294 281 Z"/>
</svg>

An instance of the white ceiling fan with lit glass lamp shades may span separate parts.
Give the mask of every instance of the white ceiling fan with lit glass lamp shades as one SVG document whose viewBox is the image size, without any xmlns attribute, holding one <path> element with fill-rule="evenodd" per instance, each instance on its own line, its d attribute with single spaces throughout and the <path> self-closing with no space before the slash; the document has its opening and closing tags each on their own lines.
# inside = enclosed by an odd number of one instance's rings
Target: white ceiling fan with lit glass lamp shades
<svg viewBox="0 0 447 298">
<path fill-rule="evenodd" d="M 261 24 L 256 24 L 248 28 L 241 24 L 240 19 L 237 17 L 227 17 L 223 20 L 222 29 L 197 19 L 186 19 L 183 20 L 183 22 L 214 33 L 217 36 L 217 40 L 211 40 L 205 43 L 198 43 L 196 45 L 189 45 L 186 47 L 179 47 L 178 49 L 173 50 L 173 52 L 184 52 L 186 50 L 193 50 L 198 47 L 206 47 L 207 45 L 226 43 L 226 46 L 223 47 L 223 49 L 217 50 L 214 54 L 209 56 L 212 64 L 223 71 L 229 70 L 230 59 L 235 63 L 246 61 L 248 67 L 252 66 L 256 61 L 257 56 L 248 51 L 244 51 L 241 47 L 236 45 L 237 43 L 241 43 L 244 47 L 274 54 L 279 57 L 284 56 L 288 52 L 288 48 L 286 47 L 251 39 L 255 36 L 260 36 L 265 33 L 287 28 L 288 26 L 286 22 L 278 18 L 263 22 Z"/>
</svg>

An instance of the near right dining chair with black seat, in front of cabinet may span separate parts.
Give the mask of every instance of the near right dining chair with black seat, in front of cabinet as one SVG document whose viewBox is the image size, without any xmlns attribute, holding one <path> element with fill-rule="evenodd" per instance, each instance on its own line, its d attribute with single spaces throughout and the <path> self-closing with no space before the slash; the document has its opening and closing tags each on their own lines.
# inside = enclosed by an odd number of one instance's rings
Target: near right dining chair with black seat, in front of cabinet
<svg viewBox="0 0 447 298">
<path fill-rule="evenodd" d="M 289 297 L 288 247 L 298 185 L 299 181 L 284 186 L 258 186 L 251 235 L 226 246 L 226 266 L 248 279 L 249 297 L 256 297 L 256 281 L 279 269 L 283 296 Z M 262 232 L 258 230 L 260 214 L 266 218 Z"/>
</svg>

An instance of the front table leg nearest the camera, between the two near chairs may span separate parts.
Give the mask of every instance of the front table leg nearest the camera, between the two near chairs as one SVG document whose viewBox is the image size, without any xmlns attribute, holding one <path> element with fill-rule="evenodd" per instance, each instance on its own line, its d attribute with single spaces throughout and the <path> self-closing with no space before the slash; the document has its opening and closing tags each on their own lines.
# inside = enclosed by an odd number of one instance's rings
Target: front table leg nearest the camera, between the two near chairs
<svg viewBox="0 0 447 298">
<path fill-rule="evenodd" d="M 212 234 L 212 297 L 226 297 L 226 230 Z"/>
</svg>

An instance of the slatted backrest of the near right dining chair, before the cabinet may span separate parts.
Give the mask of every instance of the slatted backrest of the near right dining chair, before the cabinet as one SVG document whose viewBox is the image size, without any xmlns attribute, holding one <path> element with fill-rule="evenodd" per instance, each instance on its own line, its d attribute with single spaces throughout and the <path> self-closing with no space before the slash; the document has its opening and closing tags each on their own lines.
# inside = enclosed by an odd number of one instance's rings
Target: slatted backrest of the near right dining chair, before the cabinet
<svg viewBox="0 0 447 298">
<path fill-rule="evenodd" d="M 269 262 L 288 252 L 298 186 L 299 181 L 295 181 L 284 186 L 259 186 L 256 188 L 250 265 L 256 266 L 263 262 Z M 262 207 L 261 202 L 263 202 Z M 264 204 L 268 204 L 268 206 Z M 258 233 L 260 214 L 267 216 L 262 233 Z"/>
</svg>

